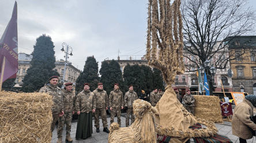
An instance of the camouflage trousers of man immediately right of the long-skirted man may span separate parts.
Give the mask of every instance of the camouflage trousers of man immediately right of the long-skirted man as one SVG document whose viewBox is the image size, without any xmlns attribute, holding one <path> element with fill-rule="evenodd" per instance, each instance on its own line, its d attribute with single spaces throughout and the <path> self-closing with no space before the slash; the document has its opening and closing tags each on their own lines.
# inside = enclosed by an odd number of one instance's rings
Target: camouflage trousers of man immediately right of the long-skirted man
<svg viewBox="0 0 256 143">
<path fill-rule="evenodd" d="M 101 109 L 96 109 L 94 113 L 94 126 L 100 127 L 100 117 L 103 123 L 103 127 L 108 127 L 108 121 L 107 121 L 107 113 L 106 109 L 101 108 Z"/>
</svg>

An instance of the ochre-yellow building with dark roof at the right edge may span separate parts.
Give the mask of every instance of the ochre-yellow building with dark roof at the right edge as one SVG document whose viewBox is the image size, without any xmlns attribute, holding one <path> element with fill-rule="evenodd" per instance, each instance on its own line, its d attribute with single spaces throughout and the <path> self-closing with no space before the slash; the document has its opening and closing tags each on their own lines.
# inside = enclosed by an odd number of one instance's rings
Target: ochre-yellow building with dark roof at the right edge
<svg viewBox="0 0 256 143">
<path fill-rule="evenodd" d="M 256 95 L 256 36 L 229 38 L 233 90 Z"/>
</svg>

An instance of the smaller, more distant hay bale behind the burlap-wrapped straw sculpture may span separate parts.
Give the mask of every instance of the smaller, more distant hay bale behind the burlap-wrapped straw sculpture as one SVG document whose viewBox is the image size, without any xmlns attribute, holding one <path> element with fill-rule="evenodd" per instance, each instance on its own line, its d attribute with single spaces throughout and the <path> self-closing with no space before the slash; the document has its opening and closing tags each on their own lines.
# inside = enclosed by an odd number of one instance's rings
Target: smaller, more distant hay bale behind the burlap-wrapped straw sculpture
<svg viewBox="0 0 256 143">
<path fill-rule="evenodd" d="M 223 123 L 220 99 L 217 96 L 194 95 L 195 98 L 195 117 Z"/>
</svg>

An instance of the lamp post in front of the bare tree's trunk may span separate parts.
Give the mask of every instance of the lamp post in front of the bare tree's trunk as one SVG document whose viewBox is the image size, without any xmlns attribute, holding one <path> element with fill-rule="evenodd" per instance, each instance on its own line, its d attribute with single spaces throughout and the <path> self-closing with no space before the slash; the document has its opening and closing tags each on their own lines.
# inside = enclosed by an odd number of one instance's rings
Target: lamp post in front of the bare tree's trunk
<svg viewBox="0 0 256 143">
<path fill-rule="evenodd" d="M 199 71 L 201 72 L 201 76 L 204 76 L 204 72 L 205 72 L 208 85 L 209 85 L 210 95 L 213 95 L 212 87 L 214 83 L 214 75 L 216 74 L 217 69 L 214 67 L 210 67 L 210 61 L 206 59 L 203 65 L 201 65 L 201 67 L 199 68 Z"/>
</svg>

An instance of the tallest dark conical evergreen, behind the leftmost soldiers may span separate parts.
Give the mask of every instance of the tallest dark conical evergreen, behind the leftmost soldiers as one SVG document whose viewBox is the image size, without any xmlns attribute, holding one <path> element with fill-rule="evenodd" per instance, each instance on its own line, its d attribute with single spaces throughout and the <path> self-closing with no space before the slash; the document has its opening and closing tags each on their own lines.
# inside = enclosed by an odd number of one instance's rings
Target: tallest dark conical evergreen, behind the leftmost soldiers
<svg viewBox="0 0 256 143">
<path fill-rule="evenodd" d="M 33 47 L 32 66 L 27 70 L 27 75 L 22 80 L 24 83 L 23 92 L 37 91 L 48 82 L 51 76 L 59 76 L 58 72 L 53 70 L 55 68 L 55 52 L 51 37 L 46 36 L 46 34 L 39 36 Z"/>
</svg>

